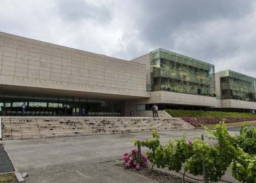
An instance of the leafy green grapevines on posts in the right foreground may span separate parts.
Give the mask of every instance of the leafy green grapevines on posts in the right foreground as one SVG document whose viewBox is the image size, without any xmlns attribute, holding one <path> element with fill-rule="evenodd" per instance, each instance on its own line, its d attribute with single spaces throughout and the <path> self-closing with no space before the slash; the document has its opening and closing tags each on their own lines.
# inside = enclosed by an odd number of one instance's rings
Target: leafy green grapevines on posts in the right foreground
<svg viewBox="0 0 256 183">
<path fill-rule="evenodd" d="M 204 160 L 207 176 L 212 182 L 221 180 L 229 167 L 235 179 L 243 183 L 256 183 L 256 129 L 246 131 L 243 125 L 241 133 L 235 137 L 230 136 L 224 121 L 215 126 L 215 131 L 208 128 L 211 134 L 208 139 L 215 139 L 217 145 L 209 145 L 196 138 L 194 142 L 187 141 L 185 133 L 182 138 L 172 138 L 165 146 L 160 145 L 160 136 L 153 131 L 151 140 L 133 141 L 134 145 L 140 143 L 147 147 L 148 160 L 157 168 L 168 167 L 169 170 L 179 172 L 184 168 L 184 174 L 203 175 L 202 160 Z M 204 152 L 204 155 L 203 155 Z"/>
</svg>

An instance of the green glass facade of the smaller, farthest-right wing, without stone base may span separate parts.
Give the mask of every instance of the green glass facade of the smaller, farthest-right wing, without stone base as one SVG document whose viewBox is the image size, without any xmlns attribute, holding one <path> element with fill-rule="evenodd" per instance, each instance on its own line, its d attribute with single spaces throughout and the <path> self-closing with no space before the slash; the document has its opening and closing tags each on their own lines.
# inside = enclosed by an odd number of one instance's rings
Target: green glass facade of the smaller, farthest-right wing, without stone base
<svg viewBox="0 0 256 183">
<path fill-rule="evenodd" d="M 219 72 L 221 99 L 256 102 L 256 78 L 232 70 Z"/>
</svg>

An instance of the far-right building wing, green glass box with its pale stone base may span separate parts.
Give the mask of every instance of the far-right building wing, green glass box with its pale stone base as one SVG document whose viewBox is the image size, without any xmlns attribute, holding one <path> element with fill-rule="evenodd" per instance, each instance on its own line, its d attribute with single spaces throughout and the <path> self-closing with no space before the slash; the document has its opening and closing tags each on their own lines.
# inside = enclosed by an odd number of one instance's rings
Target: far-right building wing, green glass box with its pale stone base
<svg viewBox="0 0 256 183">
<path fill-rule="evenodd" d="M 217 107 L 224 111 L 250 112 L 256 109 L 256 78 L 224 70 L 215 74 Z"/>
</svg>

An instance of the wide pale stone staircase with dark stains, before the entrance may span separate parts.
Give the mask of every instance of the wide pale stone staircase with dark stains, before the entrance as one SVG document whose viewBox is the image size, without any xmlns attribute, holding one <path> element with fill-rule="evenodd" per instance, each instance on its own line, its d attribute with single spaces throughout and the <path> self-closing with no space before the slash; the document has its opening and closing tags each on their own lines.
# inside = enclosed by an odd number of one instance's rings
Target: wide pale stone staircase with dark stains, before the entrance
<svg viewBox="0 0 256 183">
<path fill-rule="evenodd" d="M 1 117 L 2 140 L 124 134 L 193 128 L 179 118 Z"/>
</svg>

